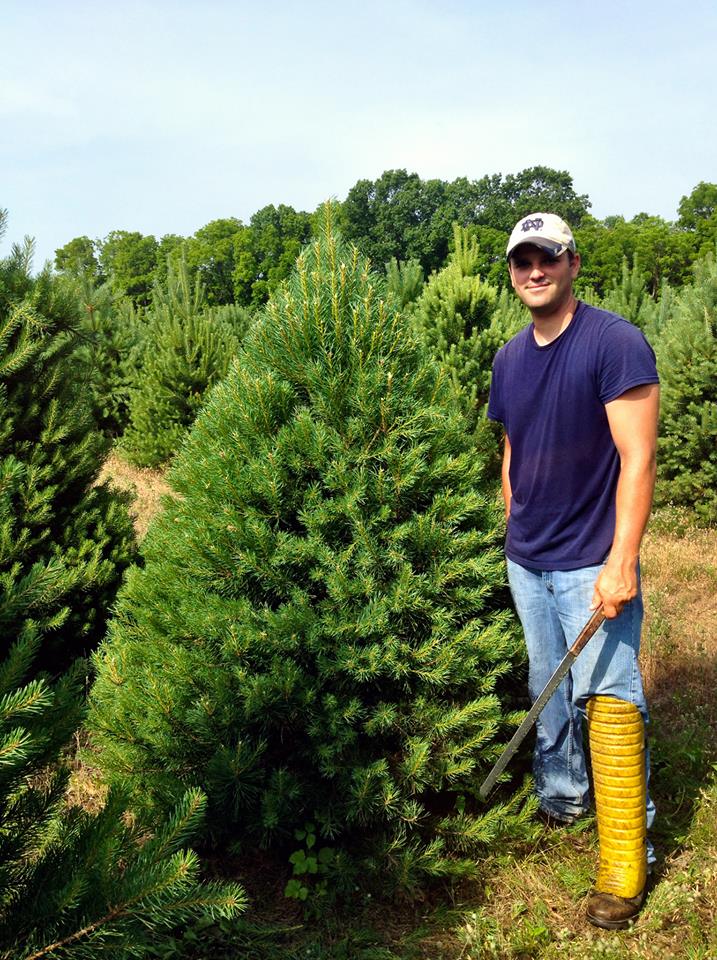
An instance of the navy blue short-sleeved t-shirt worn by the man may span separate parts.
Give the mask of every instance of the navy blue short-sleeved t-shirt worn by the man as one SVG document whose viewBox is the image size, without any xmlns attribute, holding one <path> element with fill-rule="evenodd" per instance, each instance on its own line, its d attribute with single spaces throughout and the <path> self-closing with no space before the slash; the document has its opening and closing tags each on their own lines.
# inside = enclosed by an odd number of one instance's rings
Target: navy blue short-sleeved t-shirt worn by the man
<svg viewBox="0 0 717 960">
<path fill-rule="evenodd" d="M 585 303 L 551 343 L 539 346 L 531 323 L 498 351 L 488 416 L 503 424 L 511 446 L 511 560 L 538 570 L 605 560 L 620 459 L 604 405 L 657 382 L 642 332 Z"/>
</svg>

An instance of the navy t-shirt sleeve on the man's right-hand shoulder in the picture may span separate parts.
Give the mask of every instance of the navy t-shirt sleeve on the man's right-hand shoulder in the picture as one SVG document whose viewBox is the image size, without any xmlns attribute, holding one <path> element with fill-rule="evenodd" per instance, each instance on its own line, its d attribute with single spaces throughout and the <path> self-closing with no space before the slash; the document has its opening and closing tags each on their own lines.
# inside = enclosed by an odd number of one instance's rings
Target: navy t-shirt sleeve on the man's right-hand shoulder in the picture
<svg viewBox="0 0 717 960">
<path fill-rule="evenodd" d="M 620 317 L 606 327 L 598 352 L 597 392 L 610 403 L 643 383 L 659 383 L 655 352 L 643 332 Z"/>
</svg>

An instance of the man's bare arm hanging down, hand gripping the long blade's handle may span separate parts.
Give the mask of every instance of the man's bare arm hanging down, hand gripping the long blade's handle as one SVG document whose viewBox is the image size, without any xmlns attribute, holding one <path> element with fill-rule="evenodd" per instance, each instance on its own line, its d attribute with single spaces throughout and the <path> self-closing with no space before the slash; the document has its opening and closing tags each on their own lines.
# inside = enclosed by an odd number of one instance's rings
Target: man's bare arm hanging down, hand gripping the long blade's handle
<svg viewBox="0 0 717 960">
<path fill-rule="evenodd" d="M 620 456 L 615 499 L 615 537 L 600 573 L 591 609 L 603 604 L 612 620 L 637 596 L 640 543 L 655 489 L 660 388 L 646 383 L 605 404 L 610 433 Z"/>
</svg>

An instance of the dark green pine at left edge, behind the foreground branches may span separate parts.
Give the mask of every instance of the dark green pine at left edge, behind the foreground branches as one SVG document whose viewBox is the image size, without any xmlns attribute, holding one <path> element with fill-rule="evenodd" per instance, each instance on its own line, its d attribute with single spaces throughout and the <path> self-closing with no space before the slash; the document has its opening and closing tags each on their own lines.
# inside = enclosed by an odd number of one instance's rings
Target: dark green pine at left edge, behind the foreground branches
<svg viewBox="0 0 717 960">
<path fill-rule="evenodd" d="M 0 588 L 12 596 L 36 565 L 62 582 L 39 653 L 53 670 L 104 633 L 134 533 L 124 501 L 96 483 L 108 441 L 77 375 L 76 297 L 49 271 L 33 279 L 28 253 L 15 246 L 0 261 Z"/>
</svg>

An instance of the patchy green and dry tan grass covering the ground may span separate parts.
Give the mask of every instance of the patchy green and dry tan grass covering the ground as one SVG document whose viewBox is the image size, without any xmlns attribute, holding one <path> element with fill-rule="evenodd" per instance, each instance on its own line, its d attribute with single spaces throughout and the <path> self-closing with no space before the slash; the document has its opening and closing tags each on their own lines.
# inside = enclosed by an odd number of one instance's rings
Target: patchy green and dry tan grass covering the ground
<svg viewBox="0 0 717 960">
<path fill-rule="evenodd" d="M 140 535 L 159 508 L 161 474 L 117 458 L 108 476 L 138 494 Z M 584 919 L 597 860 L 594 821 L 535 839 L 482 865 L 480 883 L 423 903 L 374 904 L 305 919 L 285 877 L 240 876 L 251 921 L 176 932 L 156 960 L 717 960 L 717 537 L 688 513 L 658 512 L 643 547 L 642 669 L 651 709 L 651 792 L 658 862 L 627 931 Z"/>
</svg>

